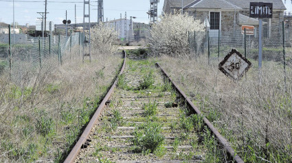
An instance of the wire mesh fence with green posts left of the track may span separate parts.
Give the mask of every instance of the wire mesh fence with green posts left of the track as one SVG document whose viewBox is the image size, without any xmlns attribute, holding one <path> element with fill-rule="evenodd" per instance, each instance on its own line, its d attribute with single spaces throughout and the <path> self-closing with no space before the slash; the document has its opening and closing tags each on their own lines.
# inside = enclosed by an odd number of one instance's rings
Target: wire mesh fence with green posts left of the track
<svg viewBox="0 0 292 163">
<path fill-rule="evenodd" d="M 43 38 L 25 34 L 0 34 L 0 75 L 9 73 L 14 82 L 19 82 L 25 74 L 38 71 L 47 60 L 56 60 L 62 64 L 63 57 L 65 54 L 71 55 L 69 52 L 73 47 L 79 45 L 82 49 L 81 39 L 80 33 Z"/>
</svg>

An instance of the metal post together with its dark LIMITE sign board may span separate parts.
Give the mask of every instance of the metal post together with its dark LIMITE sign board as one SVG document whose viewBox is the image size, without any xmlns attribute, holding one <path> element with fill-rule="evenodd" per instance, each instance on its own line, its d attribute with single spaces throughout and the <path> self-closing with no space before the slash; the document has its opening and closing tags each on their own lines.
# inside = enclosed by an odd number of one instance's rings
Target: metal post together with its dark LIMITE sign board
<svg viewBox="0 0 292 163">
<path fill-rule="evenodd" d="M 249 17 L 258 18 L 258 67 L 262 68 L 262 18 L 273 17 L 273 3 L 251 2 Z"/>
</svg>

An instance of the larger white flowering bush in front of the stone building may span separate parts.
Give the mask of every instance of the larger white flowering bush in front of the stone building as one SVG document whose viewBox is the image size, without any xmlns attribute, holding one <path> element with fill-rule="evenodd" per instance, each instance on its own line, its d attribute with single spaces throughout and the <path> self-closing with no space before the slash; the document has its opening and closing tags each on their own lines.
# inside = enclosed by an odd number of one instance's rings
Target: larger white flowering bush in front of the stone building
<svg viewBox="0 0 292 163">
<path fill-rule="evenodd" d="M 188 55 L 188 32 L 201 33 L 203 29 L 203 23 L 194 21 L 194 17 L 188 14 L 166 14 L 150 30 L 148 45 L 153 55 Z"/>
</svg>

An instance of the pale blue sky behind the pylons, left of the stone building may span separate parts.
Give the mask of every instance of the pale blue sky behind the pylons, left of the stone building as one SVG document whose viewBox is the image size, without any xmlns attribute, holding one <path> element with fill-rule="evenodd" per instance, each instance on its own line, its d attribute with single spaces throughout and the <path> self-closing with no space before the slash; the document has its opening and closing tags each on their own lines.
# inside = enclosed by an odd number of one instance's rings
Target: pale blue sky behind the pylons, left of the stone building
<svg viewBox="0 0 292 163">
<path fill-rule="evenodd" d="M 36 25 L 36 18 L 40 17 L 36 12 L 45 12 L 45 0 L 15 0 L 15 22 L 19 25 Z M 91 22 L 98 20 L 98 3 L 91 0 Z M 70 2 L 70 3 L 60 3 Z M 77 9 L 77 23 L 83 22 L 83 0 L 47 0 L 47 21 L 53 21 L 55 24 L 60 24 L 65 19 L 65 12 L 68 12 L 68 19 L 75 23 L 74 5 Z M 161 14 L 164 5 L 164 0 L 160 0 L 158 5 L 158 13 Z M 136 16 L 134 21 L 148 23 L 148 12 L 150 8 L 149 0 L 104 0 L 104 21 L 106 18 L 113 20 L 120 18 L 120 13 L 124 18 L 125 12 L 127 17 Z M 0 0 L 0 22 L 13 22 L 13 2 L 12 0 Z"/>
</svg>

